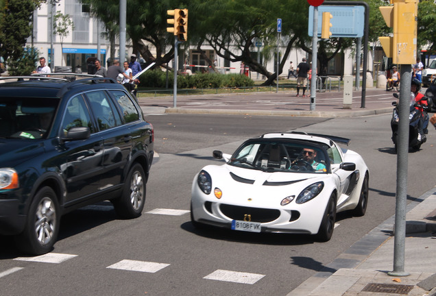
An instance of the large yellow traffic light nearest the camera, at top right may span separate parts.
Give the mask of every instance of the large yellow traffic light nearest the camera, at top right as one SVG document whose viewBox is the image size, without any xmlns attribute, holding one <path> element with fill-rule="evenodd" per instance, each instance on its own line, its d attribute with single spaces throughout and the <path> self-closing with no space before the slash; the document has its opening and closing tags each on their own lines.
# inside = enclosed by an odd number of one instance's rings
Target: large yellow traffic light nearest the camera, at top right
<svg viewBox="0 0 436 296">
<path fill-rule="evenodd" d="M 393 36 L 378 37 L 383 51 L 393 64 L 415 64 L 417 0 L 391 0 L 393 6 L 380 6 L 380 12 Z"/>
</svg>

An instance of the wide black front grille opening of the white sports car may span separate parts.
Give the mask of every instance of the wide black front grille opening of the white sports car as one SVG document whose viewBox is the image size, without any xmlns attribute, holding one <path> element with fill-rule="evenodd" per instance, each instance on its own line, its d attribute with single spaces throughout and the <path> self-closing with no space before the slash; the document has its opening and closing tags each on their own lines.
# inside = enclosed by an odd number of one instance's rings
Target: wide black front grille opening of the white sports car
<svg viewBox="0 0 436 296">
<path fill-rule="evenodd" d="M 280 217 L 279 210 L 271 210 L 264 208 L 250 208 L 243 206 L 231 206 L 228 204 L 221 204 L 219 209 L 223 214 L 233 220 L 244 220 L 247 215 L 250 215 L 252 222 L 267 223 L 274 221 Z"/>
</svg>

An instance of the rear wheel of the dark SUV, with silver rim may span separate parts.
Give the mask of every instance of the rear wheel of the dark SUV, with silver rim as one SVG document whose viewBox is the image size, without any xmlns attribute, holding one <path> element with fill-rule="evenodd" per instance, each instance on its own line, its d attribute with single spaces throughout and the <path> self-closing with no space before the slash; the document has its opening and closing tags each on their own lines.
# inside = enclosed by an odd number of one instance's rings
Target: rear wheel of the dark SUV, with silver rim
<svg viewBox="0 0 436 296">
<path fill-rule="evenodd" d="M 141 216 L 145 204 L 145 173 L 141 164 L 134 164 L 125 180 L 121 197 L 114 199 L 115 212 L 123 219 Z"/>
</svg>

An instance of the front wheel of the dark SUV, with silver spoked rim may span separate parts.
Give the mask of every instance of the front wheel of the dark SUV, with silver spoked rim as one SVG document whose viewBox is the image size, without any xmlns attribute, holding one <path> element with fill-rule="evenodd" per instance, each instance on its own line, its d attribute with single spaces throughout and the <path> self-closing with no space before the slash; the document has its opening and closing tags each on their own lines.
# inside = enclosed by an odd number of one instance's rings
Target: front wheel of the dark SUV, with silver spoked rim
<svg viewBox="0 0 436 296">
<path fill-rule="evenodd" d="M 32 255 L 48 253 L 58 238 L 59 222 L 56 193 L 50 187 L 43 187 L 30 205 L 23 232 L 16 236 L 17 247 Z"/>
</svg>

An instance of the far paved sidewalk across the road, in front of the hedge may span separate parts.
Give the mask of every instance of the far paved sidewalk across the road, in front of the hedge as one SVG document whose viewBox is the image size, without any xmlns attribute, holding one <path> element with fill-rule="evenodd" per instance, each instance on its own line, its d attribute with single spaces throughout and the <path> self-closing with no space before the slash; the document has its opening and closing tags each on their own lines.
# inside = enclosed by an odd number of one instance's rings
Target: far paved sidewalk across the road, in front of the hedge
<svg viewBox="0 0 436 296">
<path fill-rule="evenodd" d="M 181 91 L 180 91 L 181 92 Z M 296 97 L 296 92 L 232 93 L 216 95 L 178 94 L 166 97 L 139 97 L 138 101 L 147 114 L 233 114 L 261 116 L 316 116 L 343 117 L 368 116 L 390 113 L 392 92 L 370 88 L 361 99 L 361 90 L 352 93 L 352 104 L 344 107 L 343 91 L 317 93 L 311 110 L 310 97 Z M 175 107 L 174 107 L 175 106 Z M 361 108 L 364 106 L 365 108 Z"/>
</svg>

